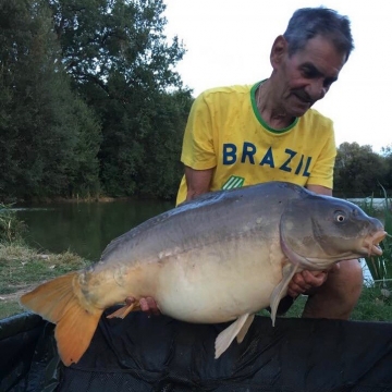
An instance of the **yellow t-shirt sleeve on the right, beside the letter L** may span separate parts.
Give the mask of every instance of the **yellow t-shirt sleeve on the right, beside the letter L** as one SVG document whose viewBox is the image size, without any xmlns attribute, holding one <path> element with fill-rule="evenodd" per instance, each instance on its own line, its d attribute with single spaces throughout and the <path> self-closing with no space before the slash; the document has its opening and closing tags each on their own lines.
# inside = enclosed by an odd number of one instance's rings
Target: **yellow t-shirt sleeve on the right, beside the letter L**
<svg viewBox="0 0 392 392">
<path fill-rule="evenodd" d="M 317 161 L 307 181 L 308 185 L 321 185 L 330 189 L 333 188 L 333 167 L 336 158 L 336 145 L 334 138 L 333 123 L 328 121 L 323 130 L 324 145 L 321 148 Z"/>
</svg>

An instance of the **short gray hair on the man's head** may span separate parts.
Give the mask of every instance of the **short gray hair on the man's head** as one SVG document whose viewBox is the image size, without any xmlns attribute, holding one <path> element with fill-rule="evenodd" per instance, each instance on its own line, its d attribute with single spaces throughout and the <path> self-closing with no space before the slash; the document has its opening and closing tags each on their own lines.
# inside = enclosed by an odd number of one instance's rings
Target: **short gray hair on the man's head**
<svg viewBox="0 0 392 392">
<path fill-rule="evenodd" d="M 354 49 L 353 36 L 347 16 L 319 7 L 296 10 L 289 21 L 283 37 L 289 44 L 289 56 L 303 49 L 316 36 L 331 39 L 339 52 L 346 53 L 346 61 Z"/>
</svg>

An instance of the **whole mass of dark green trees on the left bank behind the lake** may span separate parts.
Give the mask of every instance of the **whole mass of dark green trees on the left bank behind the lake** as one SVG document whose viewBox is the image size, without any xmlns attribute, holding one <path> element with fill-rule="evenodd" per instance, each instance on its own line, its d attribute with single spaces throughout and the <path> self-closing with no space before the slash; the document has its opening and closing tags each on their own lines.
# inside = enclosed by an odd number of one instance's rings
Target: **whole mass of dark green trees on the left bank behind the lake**
<svg viewBox="0 0 392 392">
<path fill-rule="evenodd" d="M 191 107 L 162 0 L 0 0 L 0 199 L 176 192 Z"/>
</svg>

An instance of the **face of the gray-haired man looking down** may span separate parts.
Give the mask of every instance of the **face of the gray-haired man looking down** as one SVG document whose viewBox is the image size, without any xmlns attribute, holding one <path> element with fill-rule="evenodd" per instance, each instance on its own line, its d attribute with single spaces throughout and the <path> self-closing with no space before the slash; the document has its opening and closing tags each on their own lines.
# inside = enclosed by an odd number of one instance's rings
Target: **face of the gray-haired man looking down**
<svg viewBox="0 0 392 392">
<path fill-rule="evenodd" d="M 286 42 L 283 37 L 282 39 L 283 49 L 279 61 L 274 63 L 273 57 L 271 58 L 272 66 L 277 76 L 279 75 L 275 86 L 275 97 L 279 100 L 277 105 L 287 114 L 301 117 L 316 101 L 322 99 L 338 79 L 346 53 L 336 51 L 330 40 L 317 36 L 310 39 L 304 49 L 289 57 Z"/>
</svg>

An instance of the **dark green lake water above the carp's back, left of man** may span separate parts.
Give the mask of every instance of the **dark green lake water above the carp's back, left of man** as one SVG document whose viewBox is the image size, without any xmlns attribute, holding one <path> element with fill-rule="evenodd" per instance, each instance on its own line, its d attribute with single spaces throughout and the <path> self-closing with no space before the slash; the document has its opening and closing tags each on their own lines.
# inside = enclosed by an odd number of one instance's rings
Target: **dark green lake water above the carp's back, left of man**
<svg viewBox="0 0 392 392">
<path fill-rule="evenodd" d="M 16 213 L 27 223 L 26 240 L 35 248 L 70 249 L 97 260 L 110 241 L 173 206 L 157 200 L 66 203 L 17 208 Z"/>
</svg>

